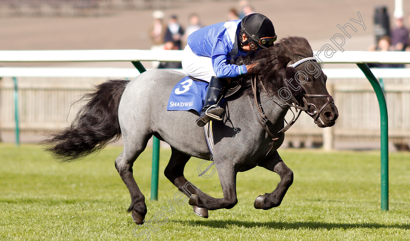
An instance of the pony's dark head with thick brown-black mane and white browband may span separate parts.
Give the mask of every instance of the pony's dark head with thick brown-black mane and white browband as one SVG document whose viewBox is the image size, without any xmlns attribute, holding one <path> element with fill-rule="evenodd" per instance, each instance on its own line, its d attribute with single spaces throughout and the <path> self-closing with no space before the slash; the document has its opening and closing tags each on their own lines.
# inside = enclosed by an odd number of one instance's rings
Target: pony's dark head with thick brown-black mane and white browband
<svg viewBox="0 0 410 241">
<path fill-rule="evenodd" d="M 330 127 L 339 116 L 326 88 L 327 76 L 313 57 L 304 37 L 287 37 L 274 46 L 260 50 L 249 71 L 257 75 L 267 92 L 282 102 L 295 103 L 307 112 L 319 127 Z"/>
</svg>

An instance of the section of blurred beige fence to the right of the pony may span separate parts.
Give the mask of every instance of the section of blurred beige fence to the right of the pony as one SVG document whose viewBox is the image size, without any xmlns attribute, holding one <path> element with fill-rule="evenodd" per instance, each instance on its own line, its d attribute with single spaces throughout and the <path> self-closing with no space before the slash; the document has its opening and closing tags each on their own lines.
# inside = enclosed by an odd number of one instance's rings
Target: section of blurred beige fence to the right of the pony
<svg viewBox="0 0 410 241">
<path fill-rule="evenodd" d="M 326 69 L 323 71 L 328 73 Z M 328 148 L 355 149 L 374 148 L 374 143 L 380 142 L 380 111 L 376 95 L 363 73 L 359 73 L 363 77 L 357 74 L 351 76 L 350 71 L 359 70 L 335 69 L 331 75 L 327 74 L 328 91 L 339 111 L 335 126 L 319 129 L 308 115 L 302 114 L 288 130 L 285 145 L 320 147 L 323 144 Z M 389 75 L 390 72 L 392 75 L 395 71 L 397 70 L 390 69 L 385 73 Z M 387 101 L 390 146 L 398 150 L 409 150 L 410 78 L 385 77 L 379 80 L 384 86 Z"/>
</svg>

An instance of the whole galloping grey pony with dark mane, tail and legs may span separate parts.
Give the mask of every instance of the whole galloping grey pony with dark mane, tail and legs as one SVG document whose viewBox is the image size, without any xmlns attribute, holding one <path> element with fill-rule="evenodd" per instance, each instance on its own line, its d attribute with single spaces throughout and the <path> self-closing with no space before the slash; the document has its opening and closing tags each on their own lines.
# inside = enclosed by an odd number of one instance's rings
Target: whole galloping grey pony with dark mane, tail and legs
<svg viewBox="0 0 410 241">
<path fill-rule="evenodd" d="M 277 152 L 284 141 L 287 111 L 292 106 L 305 111 L 319 127 L 333 126 L 338 117 L 326 89 L 327 77 L 312 56 L 305 38 L 287 37 L 251 58 L 235 60 L 237 64 L 258 64 L 252 72 L 232 80 L 242 86 L 242 91 L 227 98 L 224 120 L 213 123 L 213 161 L 223 198 L 205 194 L 184 177 L 184 167 L 191 156 L 210 160 L 211 154 L 204 129 L 195 124 L 198 113 L 166 111 L 171 90 L 184 77 L 181 73 L 152 70 L 131 81 L 102 83 L 95 93 L 82 98 L 88 102 L 71 126 L 44 143 L 56 157 L 73 161 L 122 136 L 124 148 L 115 167 L 130 192 L 128 211 L 137 224 L 143 223 L 147 209 L 132 167 L 152 135 L 171 146 L 164 174 L 188 196 L 196 214 L 207 218 L 208 210 L 235 206 L 236 174 L 256 166 L 276 172 L 281 181 L 273 192 L 258 196 L 254 207 L 276 207 L 293 182 L 292 171 Z M 255 97 L 251 80 L 255 80 Z"/>
</svg>

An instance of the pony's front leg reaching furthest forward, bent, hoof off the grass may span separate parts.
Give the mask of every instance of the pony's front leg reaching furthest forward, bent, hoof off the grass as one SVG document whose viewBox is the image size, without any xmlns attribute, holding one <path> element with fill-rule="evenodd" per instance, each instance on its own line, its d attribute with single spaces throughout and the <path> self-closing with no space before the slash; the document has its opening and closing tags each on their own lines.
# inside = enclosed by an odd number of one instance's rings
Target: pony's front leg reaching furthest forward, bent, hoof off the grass
<svg viewBox="0 0 410 241">
<path fill-rule="evenodd" d="M 253 206 L 257 209 L 267 210 L 272 207 L 277 207 L 282 203 L 283 198 L 287 192 L 287 189 L 293 183 L 293 172 L 289 167 L 285 165 L 278 151 L 275 151 L 272 156 L 262 160 L 258 166 L 265 167 L 270 171 L 274 171 L 279 174 L 281 181 L 276 189 L 271 193 L 265 193 L 265 195 L 259 195 Z"/>
</svg>

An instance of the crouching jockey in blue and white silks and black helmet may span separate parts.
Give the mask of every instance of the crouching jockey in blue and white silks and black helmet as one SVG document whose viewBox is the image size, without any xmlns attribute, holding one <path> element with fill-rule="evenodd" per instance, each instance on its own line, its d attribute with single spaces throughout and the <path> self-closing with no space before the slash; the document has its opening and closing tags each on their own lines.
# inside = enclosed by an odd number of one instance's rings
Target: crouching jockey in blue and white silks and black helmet
<svg viewBox="0 0 410 241">
<path fill-rule="evenodd" d="M 246 74 L 253 66 L 230 64 L 230 60 L 273 46 L 276 38 L 272 22 L 262 14 L 216 23 L 188 36 L 182 67 L 186 74 L 209 82 L 198 126 L 211 119 L 222 120 L 225 110 L 216 103 L 229 82 L 227 78 Z"/>
</svg>

